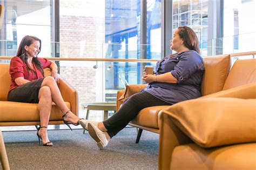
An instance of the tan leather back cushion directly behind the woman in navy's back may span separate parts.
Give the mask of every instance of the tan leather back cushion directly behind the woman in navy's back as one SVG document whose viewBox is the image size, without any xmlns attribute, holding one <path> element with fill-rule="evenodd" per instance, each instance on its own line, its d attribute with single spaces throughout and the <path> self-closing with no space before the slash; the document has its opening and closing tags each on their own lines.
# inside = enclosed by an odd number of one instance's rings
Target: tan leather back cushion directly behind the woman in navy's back
<svg viewBox="0 0 256 170">
<path fill-rule="evenodd" d="M 204 58 L 205 72 L 201 84 L 201 94 L 206 96 L 223 90 L 231 66 L 230 55 Z"/>
</svg>

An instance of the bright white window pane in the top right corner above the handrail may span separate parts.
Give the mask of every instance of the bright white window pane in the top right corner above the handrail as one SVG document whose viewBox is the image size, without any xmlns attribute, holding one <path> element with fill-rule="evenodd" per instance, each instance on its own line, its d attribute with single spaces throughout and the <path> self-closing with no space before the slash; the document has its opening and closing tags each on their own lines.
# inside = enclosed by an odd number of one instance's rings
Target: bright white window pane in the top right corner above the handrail
<svg viewBox="0 0 256 170">
<path fill-rule="evenodd" d="M 256 1 L 224 1 L 223 53 L 255 51 Z"/>
</svg>

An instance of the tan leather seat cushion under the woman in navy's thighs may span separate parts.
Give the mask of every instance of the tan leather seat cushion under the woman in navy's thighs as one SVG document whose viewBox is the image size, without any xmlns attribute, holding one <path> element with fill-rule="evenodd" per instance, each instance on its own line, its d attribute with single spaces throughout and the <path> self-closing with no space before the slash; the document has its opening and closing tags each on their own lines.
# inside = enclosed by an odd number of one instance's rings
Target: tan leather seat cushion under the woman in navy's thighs
<svg viewBox="0 0 256 170">
<path fill-rule="evenodd" d="M 140 126 L 159 128 L 159 112 L 167 107 L 170 106 L 153 106 L 144 108 L 138 113 L 137 117 L 131 121 L 131 123 Z"/>
</svg>

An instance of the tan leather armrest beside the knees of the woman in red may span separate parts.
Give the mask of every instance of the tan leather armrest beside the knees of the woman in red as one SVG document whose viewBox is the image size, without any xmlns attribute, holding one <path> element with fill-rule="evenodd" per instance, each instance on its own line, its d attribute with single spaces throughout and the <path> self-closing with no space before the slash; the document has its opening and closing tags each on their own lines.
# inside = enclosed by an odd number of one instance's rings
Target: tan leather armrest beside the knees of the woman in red
<svg viewBox="0 0 256 170">
<path fill-rule="evenodd" d="M 74 114 L 76 114 L 79 117 L 77 91 L 61 78 L 59 78 L 58 87 L 59 87 L 60 93 L 62 94 L 64 101 L 67 101 L 70 103 L 71 112 L 73 112 Z"/>
</svg>

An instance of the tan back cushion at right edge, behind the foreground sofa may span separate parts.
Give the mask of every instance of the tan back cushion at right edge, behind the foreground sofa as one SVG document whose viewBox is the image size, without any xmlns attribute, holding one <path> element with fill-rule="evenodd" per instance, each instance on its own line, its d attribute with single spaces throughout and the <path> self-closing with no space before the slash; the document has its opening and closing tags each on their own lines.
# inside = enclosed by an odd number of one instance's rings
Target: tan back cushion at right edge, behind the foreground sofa
<svg viewBox="0 0 256 170">
<path fill-rule="evenodd" d="M 256 82 L 256 59 L 236 60 L 233 64 L 223 90 Z"/>
</svg>

